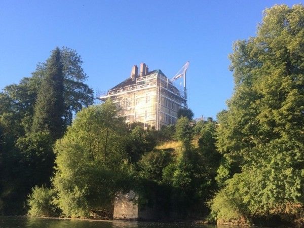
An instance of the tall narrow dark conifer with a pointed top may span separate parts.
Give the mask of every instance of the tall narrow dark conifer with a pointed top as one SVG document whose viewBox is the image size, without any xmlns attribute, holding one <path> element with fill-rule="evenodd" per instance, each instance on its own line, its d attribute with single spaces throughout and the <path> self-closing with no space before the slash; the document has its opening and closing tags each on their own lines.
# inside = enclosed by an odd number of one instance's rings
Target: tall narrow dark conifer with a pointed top
<svg viewBox="0 0 304 228">
<path fill-rule="evenodd" d="M 59 48 L 47 60 L 46 75 L 37 94 L 32 131 L 49 131 L 52 138 L 63 134 L 64 99 L 63 72 Z"/>
</svg>

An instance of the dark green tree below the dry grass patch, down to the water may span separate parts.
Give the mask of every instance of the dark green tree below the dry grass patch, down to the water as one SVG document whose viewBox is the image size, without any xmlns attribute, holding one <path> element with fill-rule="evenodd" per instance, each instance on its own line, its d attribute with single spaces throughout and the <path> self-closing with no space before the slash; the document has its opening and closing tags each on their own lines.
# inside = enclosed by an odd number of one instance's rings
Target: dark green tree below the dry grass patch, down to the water
<svg viewBox="0 0 304 228">
<path fill-rule="evenodd" d="M 171 211 L 179 217 L 202 216 L 207 211 L 211 180 L 198 150 L 187 147 L 178 151 L 175 160 L 163 169 L 163 181 L 171 186 Z"/>
</svg>

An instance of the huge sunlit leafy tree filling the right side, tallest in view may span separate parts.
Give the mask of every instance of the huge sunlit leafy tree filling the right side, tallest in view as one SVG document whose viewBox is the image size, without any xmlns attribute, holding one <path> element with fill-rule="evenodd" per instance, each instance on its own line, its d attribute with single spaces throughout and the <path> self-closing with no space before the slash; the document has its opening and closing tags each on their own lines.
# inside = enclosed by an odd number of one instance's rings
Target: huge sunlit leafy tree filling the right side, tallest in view
<svg viewBox="0 0 304 228">
<path fill-rule="evenodd" d="M 237 207 L 248 209 L 247 218 L 302 219 L 302 212 L 288 208 L 304 205 L 303 21 L 303 5 L 267 9 L 257 35 L 236 42 L 230 55 L 235 93 L 218 118 L 217 147 L 241 173 L 232 173 L 215 199 L 240 194 Z"/>
</svg>

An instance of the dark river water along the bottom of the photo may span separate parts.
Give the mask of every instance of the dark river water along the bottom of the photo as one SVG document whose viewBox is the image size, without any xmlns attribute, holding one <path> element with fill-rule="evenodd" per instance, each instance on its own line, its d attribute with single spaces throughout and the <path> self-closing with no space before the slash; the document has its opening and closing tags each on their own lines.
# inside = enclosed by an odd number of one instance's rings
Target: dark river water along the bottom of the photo
<svg viewBox="0 0 304 228">
<path fill-rule="evenodd" d="M 49 219 L 0 216 L 1 228 L 215 228 L 216 225 L 199 225 L 185 222 L 94 221 L 77 219 Z M 229 226 L 223 226 L 228 228 Z"/>
</svg>

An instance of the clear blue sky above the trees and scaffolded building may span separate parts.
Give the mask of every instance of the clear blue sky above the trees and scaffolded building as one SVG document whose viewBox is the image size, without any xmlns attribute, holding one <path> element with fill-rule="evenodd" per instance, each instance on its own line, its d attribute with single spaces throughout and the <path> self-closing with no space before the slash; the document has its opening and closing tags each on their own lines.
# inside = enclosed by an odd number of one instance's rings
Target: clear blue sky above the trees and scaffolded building
<svg viewBox="0 0 304 228">
<path fill-rule="evenodd" d="M 233 93 L 232 44 L 262 11 L 301 1 L 0 1 L 0 89 L 29 77 L 56 46 L 78 51 L 88 84 L 106 91 L 145 62 L 168 78 L 190 61 L 188 106 L 216 117 Z"/>
</svg>

